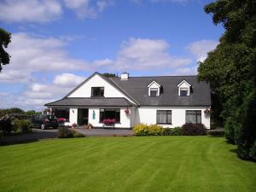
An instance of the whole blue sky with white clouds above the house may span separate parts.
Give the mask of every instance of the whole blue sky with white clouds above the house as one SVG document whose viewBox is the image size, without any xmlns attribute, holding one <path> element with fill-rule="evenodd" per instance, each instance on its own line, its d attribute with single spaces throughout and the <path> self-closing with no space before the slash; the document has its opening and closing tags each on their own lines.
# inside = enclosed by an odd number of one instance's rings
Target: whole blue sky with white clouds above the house
<svg viewBox="0 0 256 192">
<path fill-rule="evenodd" d="M 3 0 L 0 108 L 44 108 L 91 73 L 196 74 L 224 32 L 206 0 Z"/>
</svg>

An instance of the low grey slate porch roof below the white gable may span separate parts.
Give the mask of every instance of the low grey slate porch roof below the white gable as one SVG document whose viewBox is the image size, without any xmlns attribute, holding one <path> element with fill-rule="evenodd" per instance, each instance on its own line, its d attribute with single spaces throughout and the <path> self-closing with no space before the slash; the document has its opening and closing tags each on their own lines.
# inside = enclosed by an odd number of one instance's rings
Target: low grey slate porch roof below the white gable
<svg viewBox="0 0 256 192">
<path fill-rule="evenodd" d="M 49 102 L 45 104 L 47 107 L 130 107 L 133 106 L 125 98 L 106 98 L 106 97 L 96 97 L 96 98 L 77 98 L 77 97 L 64 97 L 63 99 L 56 102 Z"/>
</svg>

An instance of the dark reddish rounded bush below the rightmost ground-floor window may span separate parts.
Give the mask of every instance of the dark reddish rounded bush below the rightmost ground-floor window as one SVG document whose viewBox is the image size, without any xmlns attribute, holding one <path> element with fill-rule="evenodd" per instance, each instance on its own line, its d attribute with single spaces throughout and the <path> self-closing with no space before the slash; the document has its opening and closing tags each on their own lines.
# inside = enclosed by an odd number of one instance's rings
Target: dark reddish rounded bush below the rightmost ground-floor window
<svg viewBox="0 0 256 192">
<path fill-rule="evenodd" d="M 203 124 L 187 123 L 182 126 L 183 136 L 203 136 L 207 129 Z"/>
</svg>

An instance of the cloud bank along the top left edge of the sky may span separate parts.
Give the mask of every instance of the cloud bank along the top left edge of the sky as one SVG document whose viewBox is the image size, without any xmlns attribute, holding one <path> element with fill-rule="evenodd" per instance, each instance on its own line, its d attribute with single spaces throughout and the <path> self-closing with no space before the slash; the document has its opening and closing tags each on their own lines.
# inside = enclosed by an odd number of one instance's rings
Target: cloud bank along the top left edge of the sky
<svg viewBox="0 0 256 192">
<path fill-rule="evenodd" d="M 48 22 L 61 18 L 64 8 L 73 10 L 79 18 L 96 16 L 113 0 L 3 0 L 0 20 L 5 22 Z"/>
</svg>

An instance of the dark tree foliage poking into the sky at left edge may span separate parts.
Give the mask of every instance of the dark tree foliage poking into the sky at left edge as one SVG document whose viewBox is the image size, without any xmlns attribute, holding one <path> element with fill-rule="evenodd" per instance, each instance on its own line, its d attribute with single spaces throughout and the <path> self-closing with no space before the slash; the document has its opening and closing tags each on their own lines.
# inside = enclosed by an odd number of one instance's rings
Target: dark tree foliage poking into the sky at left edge
<svg viewBox="0 0 256 192">
<path fill-rule="evenodd" d="M 2 71 L 2 65 L 9 64 L 10 55 L 3 48 L 7 48 L 10 42 L 11 33 L 0 28 L 0 72 Z"/>
</svg>

